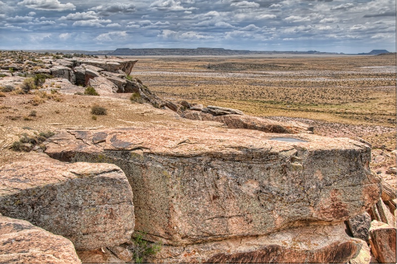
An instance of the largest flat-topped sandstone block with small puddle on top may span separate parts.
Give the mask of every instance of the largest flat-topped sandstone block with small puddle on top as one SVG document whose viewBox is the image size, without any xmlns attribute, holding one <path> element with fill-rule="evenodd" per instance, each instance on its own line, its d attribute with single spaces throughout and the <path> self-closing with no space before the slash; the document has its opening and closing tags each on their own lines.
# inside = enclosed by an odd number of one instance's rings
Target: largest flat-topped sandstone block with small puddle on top
<svg viewBox="0 0 397 264">
<path fill-rule="evenodd" d="M 291 135 L 160 125 L 61 130 L 46 153 L 119 166 L 134 193 L 135 230 L 174 246 L 338 223 L 379 199 L 367 145 L 310 134 L 293 135 L 306 142 L 270 140 L 280 137 Z"/>
</svg>

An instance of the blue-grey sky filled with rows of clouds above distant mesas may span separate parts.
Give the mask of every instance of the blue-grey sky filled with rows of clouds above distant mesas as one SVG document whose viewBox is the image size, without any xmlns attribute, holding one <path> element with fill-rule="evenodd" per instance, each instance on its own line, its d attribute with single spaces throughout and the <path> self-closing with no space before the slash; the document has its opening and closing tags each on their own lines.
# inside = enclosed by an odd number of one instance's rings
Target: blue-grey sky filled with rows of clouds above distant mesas
<svg viewBox="0 0 397 264">
<path fill-rule="evenodd" d="M 396 0 L 0 0 L 0 49 L 396 52 Z"/>
</svg>

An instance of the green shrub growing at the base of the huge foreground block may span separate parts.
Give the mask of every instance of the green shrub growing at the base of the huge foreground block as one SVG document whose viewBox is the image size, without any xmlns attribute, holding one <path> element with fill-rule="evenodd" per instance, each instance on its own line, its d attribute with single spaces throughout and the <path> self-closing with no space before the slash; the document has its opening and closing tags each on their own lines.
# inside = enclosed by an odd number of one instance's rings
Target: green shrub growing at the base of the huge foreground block
<svg viewBox="0 0 397 264">
<path fill-rule="evenodd" d="M 142 263 L 143 257 L 156 255 L 162 248 L 161 242 L 151 243 L 143 240 L 143 233 L 140 232 L 137 232 L 132 243 L 133 245 L 127 246 L 127 249 L 132 252 L 135 263 Z"/>
</svg>

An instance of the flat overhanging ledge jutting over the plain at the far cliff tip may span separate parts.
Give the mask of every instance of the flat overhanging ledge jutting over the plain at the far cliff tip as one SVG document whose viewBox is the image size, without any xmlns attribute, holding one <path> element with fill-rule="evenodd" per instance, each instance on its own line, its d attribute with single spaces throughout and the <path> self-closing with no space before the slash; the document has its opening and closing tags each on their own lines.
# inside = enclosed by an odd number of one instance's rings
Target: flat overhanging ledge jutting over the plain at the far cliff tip
<svg viewBox="0 0 397 264">
<path fill-rule="evenodd" d="M 125 74 L 129 75 L 135 65 L 136 60 L 123 60 L 123 59 L 107 59 L 107 60 L 79 60 L 76 62 L 76 66 L 81 64 L 92 65 L 107 72 L 119 73 L 123 71 Z"/>
</svg>

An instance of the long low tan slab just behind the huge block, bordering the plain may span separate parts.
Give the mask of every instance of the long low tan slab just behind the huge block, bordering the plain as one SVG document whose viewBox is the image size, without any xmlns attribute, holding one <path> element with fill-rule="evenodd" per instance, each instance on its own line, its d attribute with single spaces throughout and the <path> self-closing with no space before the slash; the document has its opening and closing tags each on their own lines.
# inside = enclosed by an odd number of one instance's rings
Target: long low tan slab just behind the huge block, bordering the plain
<svg viewBox="0 0 397 264">
<path fill-rule="evenodd" d="M 295 133 L 312 133 L 308 130 L 308 126 L 303 126 L 299 124 L 291 124 L 286 122 L 280 122 L 275 120 L 270 120 L 262 117 L 256 117 L 251 115 L 240 115 L 240 114 L 228 114 L 221 116 L 214 116 L 212 114 L 197 112 L 188 110 L 181 114 L 182 117 L 191 120 L 205 120 L 205 121 L 215 121 L 224 123 L 228 128 L 242 128 L 259 130 L 266 133 L 285 133 L 285 134 L 295 134 Z"/>
</svg>

